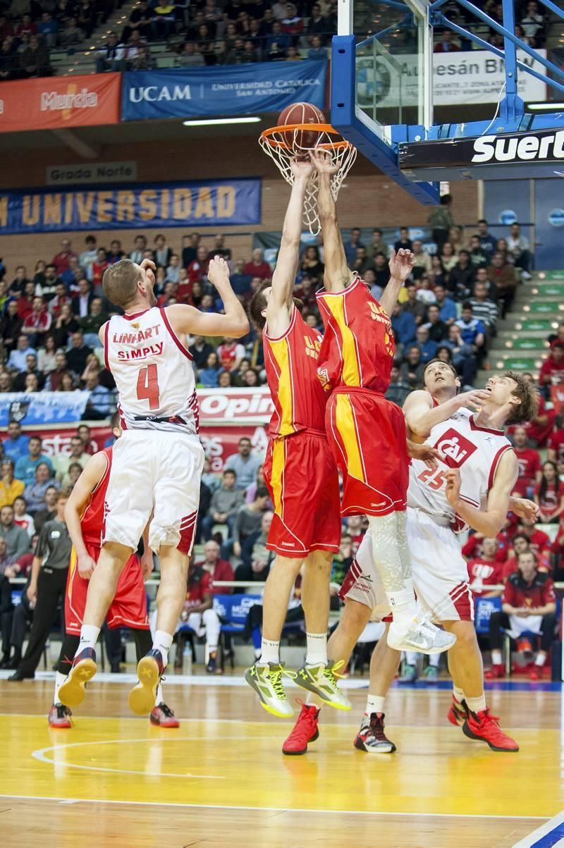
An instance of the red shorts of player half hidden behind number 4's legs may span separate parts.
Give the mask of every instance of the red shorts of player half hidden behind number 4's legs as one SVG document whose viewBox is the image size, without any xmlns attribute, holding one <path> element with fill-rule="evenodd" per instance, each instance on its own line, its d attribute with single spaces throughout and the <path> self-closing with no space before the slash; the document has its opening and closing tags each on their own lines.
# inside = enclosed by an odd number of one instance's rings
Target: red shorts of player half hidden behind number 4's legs
<svg viewBox="0 0 564 848">
<path fill-rule="evenodd" d="M 98 545 L 86 543 L 92 560 L 98 561 Z M 64 628 L 67 633 L 80 635 L 82 618 L 87 605 L 88 581 L 78 573 L 75 549 L 70 554 L 69 576 L 64 594 Z M 120 574 L 114 600 L 106 616 L 109 628 L 135 628 L 148 630 L 147 595 L 143 583 L 141 563 L 137 554 L 130 556 Z"/>
</svg>

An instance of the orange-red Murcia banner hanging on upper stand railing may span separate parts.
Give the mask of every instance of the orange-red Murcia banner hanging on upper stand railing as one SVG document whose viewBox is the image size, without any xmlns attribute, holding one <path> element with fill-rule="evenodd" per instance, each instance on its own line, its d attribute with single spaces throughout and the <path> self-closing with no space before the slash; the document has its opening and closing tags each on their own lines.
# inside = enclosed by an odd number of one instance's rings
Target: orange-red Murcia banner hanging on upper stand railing
<svg viewBox="0 0 564 848">
<path fill-rule="evenodd" d="M 117 124 L 120 74 L 3 82 L 0 132 Z"/>
</svg>

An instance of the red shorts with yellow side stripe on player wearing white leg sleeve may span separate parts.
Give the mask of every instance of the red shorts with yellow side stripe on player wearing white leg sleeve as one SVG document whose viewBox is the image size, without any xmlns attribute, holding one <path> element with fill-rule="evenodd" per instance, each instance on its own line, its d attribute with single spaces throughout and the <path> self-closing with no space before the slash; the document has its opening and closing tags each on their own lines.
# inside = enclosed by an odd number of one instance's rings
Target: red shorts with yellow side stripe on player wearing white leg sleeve
<svg viewBox="0 0 564 848">
<path fill-rule="evenodd" d="M 338 388 L 327 403 L 325 426 L 343 475 L 342 515 L 405 510 L 409 460 L 399 406 L 364 388 Z"/>
</svg>

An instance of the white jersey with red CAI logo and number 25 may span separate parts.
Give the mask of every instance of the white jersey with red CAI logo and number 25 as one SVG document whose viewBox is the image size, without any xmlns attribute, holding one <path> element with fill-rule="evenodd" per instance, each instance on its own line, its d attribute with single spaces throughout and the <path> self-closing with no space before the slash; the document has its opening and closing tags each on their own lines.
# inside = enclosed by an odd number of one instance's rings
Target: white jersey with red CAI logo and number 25
<svg viewBox="0 0 564 848">
<path fill-rule="evenodd" d="M 450 524 L 460 531 L 465 525 L 446 497 L 444 471 L 460 469 L 461 499 L 479 509 L 494 483 L 502 455 L 512 450 L 511 442 L 501 430 L 478 427 L 469 410 L 459 410 L 433 427 L 425 444 L 436 448 L 444 460 L 438 460 L 437 471 L 431 471 L 421 460 L 411 461 L 407 505 L 426 512 L 438 524 Z"/>
</svg>

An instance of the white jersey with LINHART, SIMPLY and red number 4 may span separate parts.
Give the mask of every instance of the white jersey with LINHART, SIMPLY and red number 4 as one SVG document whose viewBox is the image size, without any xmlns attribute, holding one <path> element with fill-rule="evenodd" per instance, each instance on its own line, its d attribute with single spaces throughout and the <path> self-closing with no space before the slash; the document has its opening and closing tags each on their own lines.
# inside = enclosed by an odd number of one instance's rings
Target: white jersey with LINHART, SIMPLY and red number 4
<svg viewBox="0 0 564 848">
<path fill-rule="evenodd" d="M 104 357 L 120 394 L 124 429 L 198 433 L 192 355 L 164 309 L 110 318 Z"/>
</svg>

